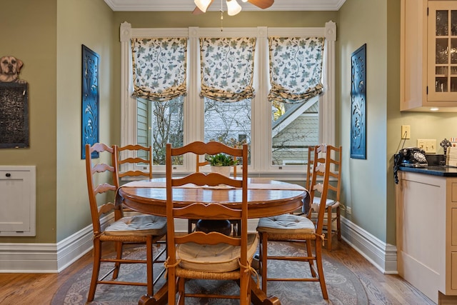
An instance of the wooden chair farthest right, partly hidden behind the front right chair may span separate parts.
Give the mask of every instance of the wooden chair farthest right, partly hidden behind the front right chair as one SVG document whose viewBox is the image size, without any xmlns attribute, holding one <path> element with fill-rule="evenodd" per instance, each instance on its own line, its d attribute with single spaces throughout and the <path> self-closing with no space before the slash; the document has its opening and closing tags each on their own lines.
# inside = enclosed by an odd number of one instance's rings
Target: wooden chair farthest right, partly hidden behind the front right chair
<svg viewBox="0 0 457 305">
<path fill-rule="evenodd" d="M 314 165 L 314 150 L 318 146 L 311 146 L 308 148 L 308 166 L 306 174 L 306 188 L 310 189 L 311 180 L 313 175 L 313 165 Z M 328 189 L 332 192 L 329 196 L 332 198 L 327 198 L 326 200 L 326 213 L 323 216 L 323 231 L 326 232 L 326 241 L 327 241 L 327 250 L 331 251 L 332 248 L 332 239 L 333 236 L 337 236 L 338 241 L 341 241 L 341 211 L 340 211 L 340 191 L 341 191 L 341 157 L 342 157 L 342 147 L 341 146 L 331 146 L 326 145 L 327 149 L 330 150 L 328 162 L 330 162 L 330 184 Z M 322 153 L 321 153 L 322 154 Z M 315 196 L 313 199 L 313 204 L 318 204 L 320 198 Z M 316 213 L 313 212 L 313 209 L 309 211 L 311 217 L 316 216 Z"/>
</svg>

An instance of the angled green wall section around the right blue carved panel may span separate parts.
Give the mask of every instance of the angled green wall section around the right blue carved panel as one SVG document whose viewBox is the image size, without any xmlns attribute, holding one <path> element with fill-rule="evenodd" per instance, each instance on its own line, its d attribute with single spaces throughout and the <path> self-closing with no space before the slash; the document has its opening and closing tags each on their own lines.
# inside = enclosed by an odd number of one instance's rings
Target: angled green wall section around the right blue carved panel
<svg viewBox="0 0 457 305">
<path fill-rule="evenodd" d="M 399 3 L 399 2 L 398 2 Z M 386 1 L 348 0 L 339 14 L 340 139 L 343 161 L 343 204 L 348 219 L 386 241 Z M 351 54 L 366 44 L 366 159 L 350 158 Z M 394 241 L 392 241 L 394 242 Z"/>
</svg>

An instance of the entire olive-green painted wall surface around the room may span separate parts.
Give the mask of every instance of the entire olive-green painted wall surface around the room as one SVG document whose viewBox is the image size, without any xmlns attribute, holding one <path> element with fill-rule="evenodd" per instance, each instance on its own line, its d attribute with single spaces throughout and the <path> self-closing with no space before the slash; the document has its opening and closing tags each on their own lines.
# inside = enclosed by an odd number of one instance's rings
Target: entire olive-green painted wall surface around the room
<svg viewBox="0 0 457 305">
<path fill-rule="evenodd" d="M 0 56 L 24 61 L 29 82 L 30 148 L 0 149 L 0 165 L 36 165 L 36 237 L 1 237 L 0 242 L 55 243 L 90 224 L 86 173 L 81 160 L 81 44 L 101 56 L 100 141 L 120 142 L 119 26 L 219 27 L 219 12 L 113 12 L 103 0 L 4 1 Z M 398 0 L 346 0 L 340 11 L 242 11 L 224 16 L 229 26 L 323 26 L 336 21 L 336 144 L 343 146 L 343 204 L 354 224 L 395 244 L 392 156 L 400 126 L 411 125 L 412 139 L 457 136 L 455 114 L 399 111 Z M 19 38 L 18 38 L 19 37 Z M 350 56 L 367 44 L 367 159 L 350 154 Z M 426 122 L 426 124 L 424 124 Z M 442 153 L 442 150 L 438 153 Z M 3 204 L 3 203 L 2 203 Z"/>
</svg>

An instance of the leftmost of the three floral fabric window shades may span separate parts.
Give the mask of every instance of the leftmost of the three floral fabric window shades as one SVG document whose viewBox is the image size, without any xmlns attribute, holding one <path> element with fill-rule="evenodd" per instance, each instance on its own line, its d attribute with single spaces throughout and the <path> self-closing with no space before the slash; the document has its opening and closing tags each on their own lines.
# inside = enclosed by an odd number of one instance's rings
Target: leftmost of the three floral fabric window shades
<svg viewBox="0 0 457 305">
<path fill-rule="evenodd" d="M 187 38 L 131 40 L 134 96 L 169 101 L 186 94 Z"/>
</svg>

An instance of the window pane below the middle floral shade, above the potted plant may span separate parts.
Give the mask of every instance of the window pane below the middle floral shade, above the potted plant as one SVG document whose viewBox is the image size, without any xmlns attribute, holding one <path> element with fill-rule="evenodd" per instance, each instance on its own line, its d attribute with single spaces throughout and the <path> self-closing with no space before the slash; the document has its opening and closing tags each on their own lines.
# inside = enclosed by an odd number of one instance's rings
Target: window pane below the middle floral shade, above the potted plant
<svg viewBox="0 0 457 305">
<path fill-rule="evenodd" d="M 251 143 L 251 100 L 224 103 L 205 98 L 204 141 L 229 146 Z"/>
</svg>

